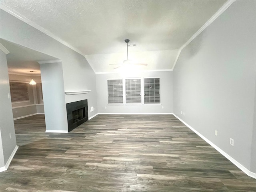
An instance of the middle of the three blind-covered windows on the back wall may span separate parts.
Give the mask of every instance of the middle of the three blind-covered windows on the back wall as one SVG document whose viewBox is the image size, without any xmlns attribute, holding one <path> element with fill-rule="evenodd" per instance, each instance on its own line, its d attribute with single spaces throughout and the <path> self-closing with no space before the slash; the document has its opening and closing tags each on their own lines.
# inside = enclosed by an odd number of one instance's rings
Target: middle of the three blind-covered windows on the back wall
<svg viewBox="0 0 256 192">
<path fill-rule="evenodd" d="M 125 80 L 126 103 L 141 103 L 140 79 Z"/>
</svg>

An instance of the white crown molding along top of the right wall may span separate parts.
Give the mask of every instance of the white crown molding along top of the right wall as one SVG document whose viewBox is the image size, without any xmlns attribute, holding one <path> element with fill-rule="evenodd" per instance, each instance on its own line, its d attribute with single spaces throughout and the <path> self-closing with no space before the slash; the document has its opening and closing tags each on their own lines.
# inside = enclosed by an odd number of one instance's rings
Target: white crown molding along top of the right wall
<svg viewBox="0 0 256 192">
<path fill-rule="evenodd" d="M 232 5 L 236 0 L 228 0 L 185 44 L 183 44 L 177 54 L 176 60 L 174 61 L 172 70 L 174 70 L 174 67 L 178 61 L 178 58 L 180 56 L 181 51 L 190 43 L 192 40 L 194 40 L 202 31 L 204 31 L 218 16 L 220 16 L 230 5 Z"/>
</svg>

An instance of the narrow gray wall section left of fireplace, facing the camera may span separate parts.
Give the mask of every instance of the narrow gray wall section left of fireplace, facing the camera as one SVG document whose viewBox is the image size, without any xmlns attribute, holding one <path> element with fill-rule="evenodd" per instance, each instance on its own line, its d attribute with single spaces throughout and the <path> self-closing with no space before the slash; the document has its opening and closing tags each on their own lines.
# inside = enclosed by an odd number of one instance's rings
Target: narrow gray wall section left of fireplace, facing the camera
<svg viewBox="0 0 256 192">
<path fill-rule="evenodd" d="M 46 130 L 68 131 L 62 64 L 40 64 L 40 70 Z"/>
</svg>

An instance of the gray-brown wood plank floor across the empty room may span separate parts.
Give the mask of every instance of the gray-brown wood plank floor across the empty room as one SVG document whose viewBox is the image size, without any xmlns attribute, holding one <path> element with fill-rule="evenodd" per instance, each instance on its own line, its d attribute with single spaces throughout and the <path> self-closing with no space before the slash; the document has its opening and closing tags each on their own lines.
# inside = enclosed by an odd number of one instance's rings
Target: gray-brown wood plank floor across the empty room
<svg viewBox="0 0 256 192">
<path fill-rule="evenodd" d="M 98 115 L 68 134 L 43 115 L 15 120 L 0 191 L 256 192 L 256 180 L 172 115 Z"/>
</svg>

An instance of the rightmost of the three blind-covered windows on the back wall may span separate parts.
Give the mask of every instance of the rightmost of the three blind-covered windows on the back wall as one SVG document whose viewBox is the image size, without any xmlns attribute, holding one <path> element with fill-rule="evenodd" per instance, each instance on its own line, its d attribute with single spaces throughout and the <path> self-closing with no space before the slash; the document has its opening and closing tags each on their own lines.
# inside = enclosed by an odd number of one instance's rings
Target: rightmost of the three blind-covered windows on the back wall
<svg viewBox="0 0 256 192">
<path fill-rule="evenodd" d="M 160 78 L 144 78 L 144 103 L 160 103 Z"/>
</svg>

